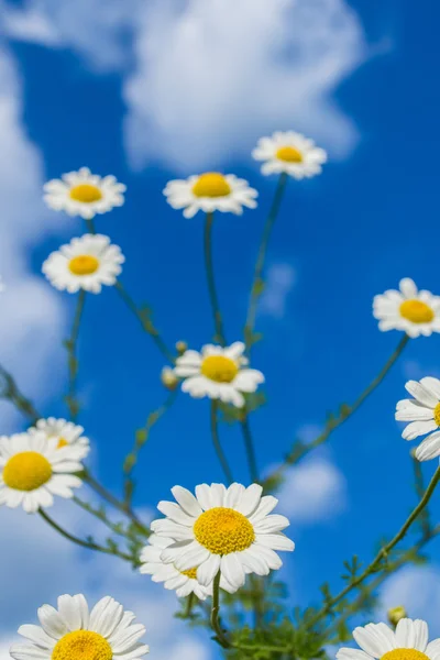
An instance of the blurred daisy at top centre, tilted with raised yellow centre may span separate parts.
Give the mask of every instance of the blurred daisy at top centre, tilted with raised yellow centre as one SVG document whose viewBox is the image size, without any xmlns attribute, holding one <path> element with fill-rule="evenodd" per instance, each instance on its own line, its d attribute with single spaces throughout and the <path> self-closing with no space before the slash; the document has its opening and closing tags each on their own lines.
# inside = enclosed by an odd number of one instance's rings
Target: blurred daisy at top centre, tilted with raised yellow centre
<svg viewBox="0 0 440 660">
<path fill-rule="evenodd" d="M 258 196 L 244 179 L 218 172 L 168 182 L 164 195 L 174 209 L 185 209 L 185 218 L 193 218 L 197 211 L 223 211 L 241 216 L 243 207 L 256 208 L 255 198 Z"/>
</svg>

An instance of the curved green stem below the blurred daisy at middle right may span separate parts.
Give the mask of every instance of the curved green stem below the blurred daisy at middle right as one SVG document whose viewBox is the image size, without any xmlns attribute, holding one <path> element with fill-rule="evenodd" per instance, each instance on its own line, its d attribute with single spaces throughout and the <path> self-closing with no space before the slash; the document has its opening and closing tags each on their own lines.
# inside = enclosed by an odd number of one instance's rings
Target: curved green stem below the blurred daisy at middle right
<svg viewBox="0 0 440 660">
<path fill-rule="evenodd" d="M 382 381 L 385 378 L 387 373 L 391 371 L 392 366 L 397 362 L 398 358 L 402 355 L 406 344 L 409 341 L 409 337 L 404 334 L 400 339 L 396 350 L 391 355 L 391 358 L 385 363 L 384 367 L 381 370 L 378 375 L 372 381 L 363 391 L 363 393 L 356 398 L 356 400 L 352 404 L 352 406 L 344 406 L 338 417 L 331 417 L 326 425 L 324 430 L 320 433 L 312 442 L 308 444 L 298 443 L 295 444 L 294 449 L 286 457 L 284 463 L 277 468 L 274 472 L 272 472 L 265 480 L 263 485 L 271 490 L 271 482 L 278 485 L 279 481 L 284 476 L 284 472 L 289 465 L 295 465 L 298 463 L 305 455 L 307 455 L 311 450 L 316 449 L 323 442 L 328 440 L 328 438 L 332 435 L 336 429 L 342 426 L 350 417 L 354 415 L 354 413 L 362 406 L 362 404 L 367 399 L 367 397 L 378 387 Z"/>
</svg>

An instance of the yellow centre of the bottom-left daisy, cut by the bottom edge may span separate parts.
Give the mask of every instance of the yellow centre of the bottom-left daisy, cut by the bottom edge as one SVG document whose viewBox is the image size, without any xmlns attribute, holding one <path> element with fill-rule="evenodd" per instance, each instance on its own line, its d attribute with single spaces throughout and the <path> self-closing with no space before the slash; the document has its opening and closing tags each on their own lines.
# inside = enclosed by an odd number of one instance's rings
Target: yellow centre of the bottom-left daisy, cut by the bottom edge
<svg viewBox="0 0 440 660">
<path fill-rule="evenodd" d="M 92 630 L 67 632 L 52 652 L 52 660 L 111 660 L 112 657 L 107 639 Z"/>
</svg>

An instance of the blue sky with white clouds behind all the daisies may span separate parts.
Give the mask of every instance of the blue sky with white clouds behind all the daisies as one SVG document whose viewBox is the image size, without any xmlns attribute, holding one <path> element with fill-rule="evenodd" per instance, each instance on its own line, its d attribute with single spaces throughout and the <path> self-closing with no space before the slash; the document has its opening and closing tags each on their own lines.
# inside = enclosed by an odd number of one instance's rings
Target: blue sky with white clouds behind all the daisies
<svg viewBox="0 0 440 660">
<path fill-rule="evenodd" d="M 0 252 L 8 284 L 0 356 L 43 414 L 65 415 L 65 355 L 57 346 L 68 332 L 74 300 L 53 292 L 40 268 L 50 252 L 84 228 L 79 219 L 47 211 L 41 185 L 82 165 L 128 185 L 124 207 L 99 218 L 98 230 L 121 246 L 127 256 L 121 280 L 136 300 L 153 307 L 166 341 L 185 339 L 196 349 L 213 333 L 202 218 L 185 220 L 166 205 L 162 189 L 172 178 L 206 169 L 234 173 L 258 189 L 257 210 L 219 217 L 215 227 L 227 336 L 241 339 L 275 187 L 274 178 L 261 176 L 250 151 L 274 130 L 304 131 L 328 150 L 329 163 L 322 176 L 289 183 L 268 252 L 270 286 L 257 319 L 264 341 L 253 358 L 267 381 L 268 405 L 252 419 L 264 469 L 282 459 L 297 433 L 312 437 L 327 411 L 353 400 L 394 350 L 399 337 L 377 330 L 373 296 L 405 276 L 440 292 L 436 21 L 427 22 L 420 6 L 410 2 L 319 0 L 307 9 L 305 0 L 296 8 L 289 0 L 272 0 L 270 14 L 268 0 L 201 4 L 193 0 L 178 9 L 161 1 L 146 10 L 138 2 L 122 8 L 100 0 L 75 7 L 0 2 L 6 145 Z M 283 273 L 287 285 L 279 283 Z M 164 400 L 163 360 L 113 290 L 87 301 L 79 349 L 81 424 L 100 477 L 117 493 L 134 430 Z M 365 407 L 305 463 L 306 472 L 289 475 L 290 492 L 300 483 L 317 497 L 310 510 L 288 497 L 284 505 L 297 542 L 285 575 L 295 603 L 316 600 L 324 580 L 338 585 L 342 560 L 354 552 L 371 558 L 378 537 L 394 532 L 414 505 L 408 446 L 394 407 L 408 378 L 440 374 L 439 349 L 439 337 L 411 341 Z M 176 483 L 194 488 L 221 481 L 208 411 L 206 402 L 183 394 L 154 429 L 136 472 L 141 507 L 154 507 Z M 22 428 L 9 408 L 2 414 L 4 432 Z M 221 431 L 237 477 L 248 482 L 239 432 Z M 320 470 L 329 485 L 317 496 L 314 479 Z M 432 463 L 424 465 L 427 479 L 433 470 Z M 438 515 L 436 501 L 432 510 Z M 11 560 L 22 539 L 14 537 L 15 518 L 1 515 Z M 36 522 L 30 522 L 32 534 L 45 534 Z M 22 518 L 21 530 L 26 525 Z M 54 542 L 50 536 L 43 540 Z M 430 553 L 436 563 L 438 544 Z M 111 588 L 103 578 L 92 580 L 90 563 L 82 563 L 90 560 L 67 557 L 84 572 L 78 588 L 92 594 Z M 19 571 L 14 580 L 26 584 L 32 565 L 24 564 L 12 565 Z M 15 598 L 10 616 L 2 616 L 1 639 L 59 590 L 76 588 L 64 565 L 52 586 L 42 581 L 25 602 L 12 592 L 4 602 L 0 595 L 3 605 Z M 50 575 L 51 564 L 38 566 Z M 436 566 L 432 571 L 437 575 Z M 10 584 L 9 574 L 3 561 L 0 582 Z M 411 580 L 414 573 L 407 573 L 394 585 L 393 597 L 406 594 Z M 161 586 L 142 587 L 145 598 L 162 597 Z M 440 600 L 437 592 L 428 595 Z M 428 616 L 420 596 L 414 610 L 405 604 L 414 616 Z M 199 645 L 200 660 L 210 657 L 210 647 L 188 639 Z M 173 657 L 164 639 L 157 645 L 158 653 Z"/>
</svg>

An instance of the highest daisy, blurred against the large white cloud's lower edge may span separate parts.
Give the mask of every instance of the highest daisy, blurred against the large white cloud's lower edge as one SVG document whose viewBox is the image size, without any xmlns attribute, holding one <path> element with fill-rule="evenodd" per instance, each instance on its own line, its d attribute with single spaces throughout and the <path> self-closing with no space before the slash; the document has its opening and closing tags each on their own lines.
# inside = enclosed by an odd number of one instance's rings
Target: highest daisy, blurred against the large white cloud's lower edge
<svg viewBox="0 0 440 660">
<path fill-rule="evenodd" d="M 255 161 L 264 161 L 262 174 L 285 173 L 296 179 L 321 174 L 321 165 L 327 161 L 323 148 L 294 131 L 276 131 L 272 138 L 261 138 L 252 156 Z"/>
</svg>

